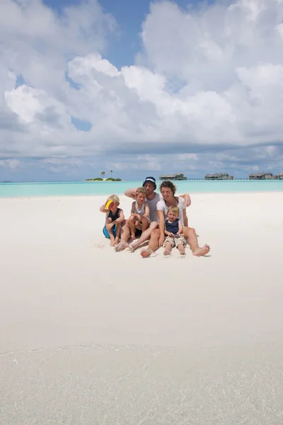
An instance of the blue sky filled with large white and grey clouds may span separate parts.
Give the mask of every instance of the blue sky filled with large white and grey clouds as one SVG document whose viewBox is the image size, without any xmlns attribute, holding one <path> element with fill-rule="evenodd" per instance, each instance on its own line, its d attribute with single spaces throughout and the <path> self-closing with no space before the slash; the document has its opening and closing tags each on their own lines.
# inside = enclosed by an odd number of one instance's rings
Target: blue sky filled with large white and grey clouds
<svg viewBox="0 0 283 425">
<path fill-rule="evenodd" d="M 282 22 L 283 0 L 1 0 L 0 181 L 283 171 Z"/>
</svg>

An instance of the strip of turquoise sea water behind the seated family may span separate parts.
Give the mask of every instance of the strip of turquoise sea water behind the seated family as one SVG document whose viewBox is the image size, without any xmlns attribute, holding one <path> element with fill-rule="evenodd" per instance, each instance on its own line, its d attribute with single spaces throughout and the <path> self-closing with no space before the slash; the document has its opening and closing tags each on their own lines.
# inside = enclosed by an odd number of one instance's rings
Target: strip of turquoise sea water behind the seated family
<svg viewBox="0 0 283 425">
<path fill-rule="evenodd" d="M 57 183 L 0 183 L 0 198 L 34 196 L 96 196 L 117 193 L 141 185 L 141 181 L 72 181 Z M 160 182 L 157 182 L 159 185 Z M 233 193 L 282 191 L 283 180 L 271 181 L 176 181 L 178 193 Z"/>
</svg>

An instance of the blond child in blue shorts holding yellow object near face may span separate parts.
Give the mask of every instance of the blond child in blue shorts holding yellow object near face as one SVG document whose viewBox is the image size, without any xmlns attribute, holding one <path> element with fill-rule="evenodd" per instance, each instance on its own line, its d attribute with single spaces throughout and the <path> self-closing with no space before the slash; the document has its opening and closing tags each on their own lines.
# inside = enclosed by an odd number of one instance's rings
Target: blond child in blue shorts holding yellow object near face
<svg viewBox="0 0 283 425">
<path fill-rule="evenodd" d="M 106 208 L 108 201 L 110 201 L 110 205 Z M 100 211 L 106 213 L 103 234 L 105 237 L 110 239 L 110 246 L 119 244 L 122 222 L 125 221 L 124 212 L 121 208 L 119 208 L 119 205 L 119 197 L 117 195 L 110 195 L 108 196 L 105 204 L 100 207 Z"/>
</svg>

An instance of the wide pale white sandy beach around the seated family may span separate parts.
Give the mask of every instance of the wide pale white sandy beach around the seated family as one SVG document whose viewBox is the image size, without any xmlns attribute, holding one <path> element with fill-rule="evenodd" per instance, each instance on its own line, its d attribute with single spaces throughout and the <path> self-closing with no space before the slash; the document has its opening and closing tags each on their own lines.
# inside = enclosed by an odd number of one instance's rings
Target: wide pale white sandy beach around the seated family
<svg viewBox="0 0 283 425">
<path fill-rule="evenodd" d="M 283 194 L 194 194 L 183 260 L 113 251 L 104 200 L 0 199 L 0 424 L 282 424 Z"/>
</svg>

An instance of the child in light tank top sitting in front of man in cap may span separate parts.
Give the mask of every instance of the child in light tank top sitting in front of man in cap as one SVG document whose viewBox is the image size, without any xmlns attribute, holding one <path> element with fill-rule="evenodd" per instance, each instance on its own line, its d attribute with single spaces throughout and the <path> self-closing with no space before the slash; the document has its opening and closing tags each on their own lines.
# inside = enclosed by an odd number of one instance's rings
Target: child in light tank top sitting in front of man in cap
<svg viewBox="0 0 283 425">
<path fill-rule="evenodd" d="M 137 188 L 136 200 L 132 203 L 129 217 L 129 229 L 132 241 L 149 227 L 149 204 L 146 202 L 146 190 Z"/>
</svg>

